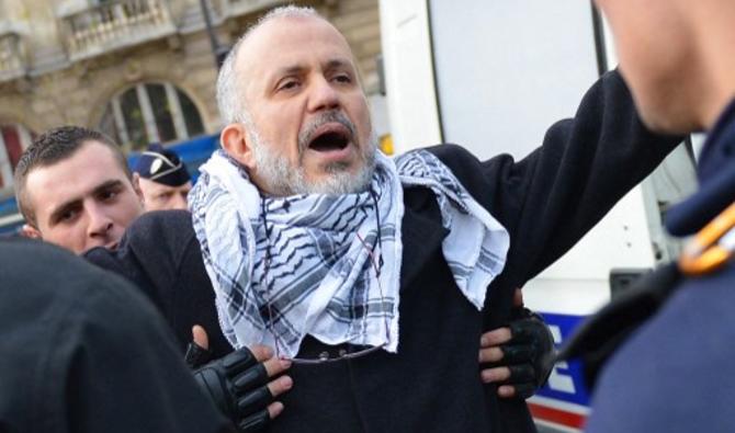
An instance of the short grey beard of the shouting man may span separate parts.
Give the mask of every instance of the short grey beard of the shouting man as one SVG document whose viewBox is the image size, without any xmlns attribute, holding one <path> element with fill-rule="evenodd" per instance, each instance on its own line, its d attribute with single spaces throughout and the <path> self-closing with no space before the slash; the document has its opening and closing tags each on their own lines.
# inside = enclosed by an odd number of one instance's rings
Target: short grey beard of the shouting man
<svg viewBox="0 0 735 433">
<path fill-rule="evenodd" d="M 350 173 L 349 166 L 335 162 L 327 166 L 329 175 L 319 181 L 308 182 L 303 167 L 292 167 L 287 158 L 275 155 L 263 143 L 260 135 L 252 127 L 248 137 L 258 167 L 258 174 L 265 183 L 265 189 L 276 196 L 295 194 L 352 194 L 366 191 L 375 171 L 375 151 L 377 138 L 371 134 L 368 146 L 362 149 L 360 158 L 363 161 L 360 171 Z"/>
</svg>

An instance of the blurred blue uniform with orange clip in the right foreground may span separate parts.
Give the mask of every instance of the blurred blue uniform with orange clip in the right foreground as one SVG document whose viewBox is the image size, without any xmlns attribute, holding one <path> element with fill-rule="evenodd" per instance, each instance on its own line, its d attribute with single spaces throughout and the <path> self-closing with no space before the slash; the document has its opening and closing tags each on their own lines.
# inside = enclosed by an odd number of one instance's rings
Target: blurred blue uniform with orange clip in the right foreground
<svg viewBox="0 0 735 433">
<path fill-rule="evenodd" d="M 596 384 L 587 432 L 735 432 L 735 102 L 698 178 L 667 215 L 672 235 L 699 232 L 679 263 L 606 307 L 566 350 Z"/>
</svg>

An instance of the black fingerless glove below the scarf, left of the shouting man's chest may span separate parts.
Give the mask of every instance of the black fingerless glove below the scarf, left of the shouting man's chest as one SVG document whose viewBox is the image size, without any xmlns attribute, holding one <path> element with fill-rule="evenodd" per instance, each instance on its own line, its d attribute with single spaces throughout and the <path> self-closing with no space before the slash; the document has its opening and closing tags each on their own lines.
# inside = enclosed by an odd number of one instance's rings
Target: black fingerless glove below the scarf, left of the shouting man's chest
<svg viewBox="0 0 735 433">
<path fill-rule="evenodd" d="M 190 343 L 185 361 L 199 367 L 210 358 L 208 351 Z M 237 350 L 193 371 L 194 379 L 240 432 L 260 432 L 270 421 L 268 372 L 247 349 Z"/>
</svg>

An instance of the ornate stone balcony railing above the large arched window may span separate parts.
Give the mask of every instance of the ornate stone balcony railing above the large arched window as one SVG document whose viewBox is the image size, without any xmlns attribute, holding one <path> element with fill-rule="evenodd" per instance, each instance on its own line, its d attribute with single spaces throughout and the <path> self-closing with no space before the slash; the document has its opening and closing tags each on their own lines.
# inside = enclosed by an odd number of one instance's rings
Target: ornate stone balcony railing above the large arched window
<svg viewBox="0 0 735 433">
<path fill-rule="evenodd" d="M 117 0 L 61 18 L 70 60 L 176 33 L 166 0 Z"/>
</svg>

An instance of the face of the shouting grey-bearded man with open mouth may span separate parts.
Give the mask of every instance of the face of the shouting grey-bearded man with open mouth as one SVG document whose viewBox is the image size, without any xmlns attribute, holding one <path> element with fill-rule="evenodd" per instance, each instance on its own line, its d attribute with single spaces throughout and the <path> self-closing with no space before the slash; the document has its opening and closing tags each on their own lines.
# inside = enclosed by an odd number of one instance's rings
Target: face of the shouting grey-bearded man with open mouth
<svg viewBox="0 0 735 433">
<path fill-rule="evenodd" d="M 249 153 L 226 148 L 261 190 L 364 186 L 375 151 L 370 114 L 352 53 L 333 26 L 314 18 L 269 22 L 240 48 L 236 70 L 252 122 L 228 128 L 249 128 L 242 132 Z"/>
</svg>

